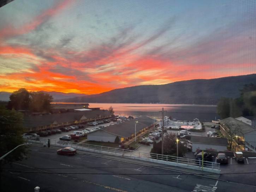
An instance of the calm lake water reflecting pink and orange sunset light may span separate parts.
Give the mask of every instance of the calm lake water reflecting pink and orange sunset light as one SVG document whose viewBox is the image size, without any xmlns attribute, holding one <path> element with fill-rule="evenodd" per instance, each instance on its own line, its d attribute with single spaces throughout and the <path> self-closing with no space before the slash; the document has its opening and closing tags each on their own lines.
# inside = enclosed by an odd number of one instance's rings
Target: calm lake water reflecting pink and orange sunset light
<svg viewBox="0 0 256 192">
<path fill-rule="evenodd" d="M 177 120 L 193 120 L 198 118 L 201 121 L 215 120 L 216 106 L 212 105 L 184 105 L 184 104 L 132 104 L 132 103 L 89 103 L 89 107 L 100 107 L 101 109 L 108 109 L 112 106 L 115 111 L 115 115 L 148 115 L 150 117 L 155 116 L 161 118 L 162 107 L 165 112 L 165 116 L 172 116 Z"/>
</svg>

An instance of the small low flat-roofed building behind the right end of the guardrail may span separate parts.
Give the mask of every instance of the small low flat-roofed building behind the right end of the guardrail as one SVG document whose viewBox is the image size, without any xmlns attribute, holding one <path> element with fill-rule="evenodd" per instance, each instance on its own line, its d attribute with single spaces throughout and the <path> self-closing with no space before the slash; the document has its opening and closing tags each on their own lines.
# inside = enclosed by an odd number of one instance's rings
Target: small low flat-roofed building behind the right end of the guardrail
<svg viewBox="0 0 256 192">
<path fill-rule="evenodd" d="M 200 137 L 191 136 L 192 151 L 197 150 L 213 150 L 213 151 L 224 151 L 227 150 L 227 139 L 226 138 L 212 138 L 212 137 Z"/>
</svg>

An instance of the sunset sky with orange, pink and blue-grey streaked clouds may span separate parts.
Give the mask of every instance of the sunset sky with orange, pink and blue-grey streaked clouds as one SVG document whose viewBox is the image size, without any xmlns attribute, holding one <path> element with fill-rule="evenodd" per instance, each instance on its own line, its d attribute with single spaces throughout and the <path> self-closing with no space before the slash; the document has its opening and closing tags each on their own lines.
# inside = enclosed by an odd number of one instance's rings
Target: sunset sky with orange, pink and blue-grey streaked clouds
<svg viewBox="0 0 256 192">
<path fill-rule="evenodd" d="M 14 0 L 0 18 L 0 91 L 256 73 L 255 0 Z"/>
</svg>

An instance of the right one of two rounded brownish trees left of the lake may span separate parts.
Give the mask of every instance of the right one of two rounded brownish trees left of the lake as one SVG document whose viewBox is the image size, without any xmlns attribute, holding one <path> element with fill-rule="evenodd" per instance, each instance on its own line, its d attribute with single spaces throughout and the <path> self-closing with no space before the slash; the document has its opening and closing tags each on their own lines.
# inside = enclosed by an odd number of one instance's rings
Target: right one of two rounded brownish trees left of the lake
<svg viewBox="0 0 256 192">
<path fill-rule="evenodd" d="M 51 95 L 44 93 L 43 91 L 30 92 L 30 95 L 30 109 L 33 112 L 50 112 L 50 103 L 53 100 L 53 97 Z"/>
</svg>

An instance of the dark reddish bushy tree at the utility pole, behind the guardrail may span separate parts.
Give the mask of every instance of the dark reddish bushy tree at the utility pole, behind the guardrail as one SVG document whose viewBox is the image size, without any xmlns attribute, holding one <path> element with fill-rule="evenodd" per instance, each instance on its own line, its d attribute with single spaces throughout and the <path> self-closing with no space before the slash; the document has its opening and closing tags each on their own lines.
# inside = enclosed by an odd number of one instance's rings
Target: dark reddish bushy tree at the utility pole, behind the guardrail
<svg viewBox="0 0 256 192">
<path fill-rule="evenodd" d="M 174 133 L 166 133 L 163 143 L 163 154 L 177 156 L 177 137 Z M 179 143 L 178 144 L 178 156 L 183 157 L 183 155 L 187 152 L 187 148 Z M 161 154 L 162 153 L 162 141 L 154 142 L 153 148 L 150 151 L 151 153 Z"/>
</svg>

